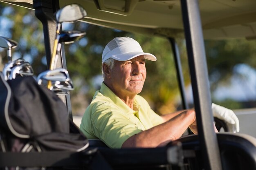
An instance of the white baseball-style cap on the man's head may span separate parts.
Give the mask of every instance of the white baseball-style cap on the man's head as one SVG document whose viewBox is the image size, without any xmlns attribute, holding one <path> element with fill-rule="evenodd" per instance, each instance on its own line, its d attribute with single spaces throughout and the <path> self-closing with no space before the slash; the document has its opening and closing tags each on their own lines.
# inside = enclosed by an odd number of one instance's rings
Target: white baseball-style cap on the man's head
<svg viewBox="0 0 256 170">
<path fill-rule="evenodd" d="M 139 43 L 132 38 L 116 37 L 105 46 L 102 53 L 102 62 L 105 62 L 109 58 L 118 61 L 127 61 L 140 55 L 144 55 L 144 58 L 147 60 L 157 60 L 153 54 L 144 53 Z"/>
</svg>

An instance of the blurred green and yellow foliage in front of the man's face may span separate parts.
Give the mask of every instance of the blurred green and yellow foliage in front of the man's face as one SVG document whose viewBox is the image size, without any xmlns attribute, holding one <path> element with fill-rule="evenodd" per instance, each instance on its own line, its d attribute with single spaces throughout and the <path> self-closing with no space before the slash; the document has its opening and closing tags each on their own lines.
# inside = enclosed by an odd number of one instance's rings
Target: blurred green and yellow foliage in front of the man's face
<svg viewBox="0 0 256 170">
<path fill-rule="evenodd" d="M 144 84 L 144 90 L 141 95 L 153 103 L 153 109 L 157 113 L 166 114 L 176 110 L 177 104 L 180 100 L 177 97 L 180 91 L 177 85 L 177 77 L 175 71 L 175 64 L 171 44 L 166 38 L 161 37 L 147 37 L 141 35 L 134 35 L 142 49 L 147 53 L 152 53 L 157 57 L 156 62 L 146 61 L 147 79 Z M 188 73 L 186 66 L 186 51 L 184 51 L 184 41 L 177 40 L 181 46 L 181 58 L 183 64 L 183 73 Z M 189 74 L 184 74 L 185 84 L 190 82 Z"/>
</svg>

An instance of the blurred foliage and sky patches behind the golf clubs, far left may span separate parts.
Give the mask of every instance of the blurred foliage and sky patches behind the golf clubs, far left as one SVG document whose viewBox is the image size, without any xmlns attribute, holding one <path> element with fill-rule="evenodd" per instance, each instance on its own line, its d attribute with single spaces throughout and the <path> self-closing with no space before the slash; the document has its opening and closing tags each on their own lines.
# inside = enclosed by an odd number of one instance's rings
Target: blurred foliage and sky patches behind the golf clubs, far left
<svg viewBox="0 0 256 170">
<path fill-rule="evenodd" d="M 18 47 L 12 50 L 13 60 L 24 58 L 31 62 L 36 74 L 44 71 L 47 67 L 42 64 L 45 56 L 43 42 L 43 27 L 34 11 L 6 3 L 0 3 L 0 35 L 18 42 Z M 3 63 L 7 62 L 7 53 L 2 50 Z"/>
</svg>

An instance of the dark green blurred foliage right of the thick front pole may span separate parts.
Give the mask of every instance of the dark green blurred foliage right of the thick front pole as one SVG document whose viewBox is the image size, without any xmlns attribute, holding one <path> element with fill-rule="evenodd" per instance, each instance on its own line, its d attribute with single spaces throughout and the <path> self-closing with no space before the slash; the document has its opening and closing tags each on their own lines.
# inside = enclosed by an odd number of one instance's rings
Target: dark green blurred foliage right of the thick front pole
<svg viewBox="0 0 256 170">
<path fill-rule="evenodd" d="M 235 68 L 238 64 L 256 67 L 256 40 L 207 40 L 205 41 L 211 89 L 228 84 L 231 76 L 243 78 Z"/>
</svg>

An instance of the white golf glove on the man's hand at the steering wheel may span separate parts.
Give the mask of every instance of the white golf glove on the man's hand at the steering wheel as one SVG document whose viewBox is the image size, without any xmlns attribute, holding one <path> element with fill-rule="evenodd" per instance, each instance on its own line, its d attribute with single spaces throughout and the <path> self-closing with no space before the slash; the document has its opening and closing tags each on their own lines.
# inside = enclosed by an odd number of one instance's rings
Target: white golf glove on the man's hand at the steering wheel
<svg viewBox="0 0 256 170">
<path fill-rule="evenodd" d="M 231 132 L 239 132 L 239 120 L 236 117 L 236 114 L 225 107 L 219 106 L 217 104 L 212 104 L 211 105 L 211 109 L 213 112 L 213 117 L 217 117 L 223 121 L 225 121 L 225 123 L 227 123 L 227 126 L 229 128 L 229 130 Z"/>
</svg>

